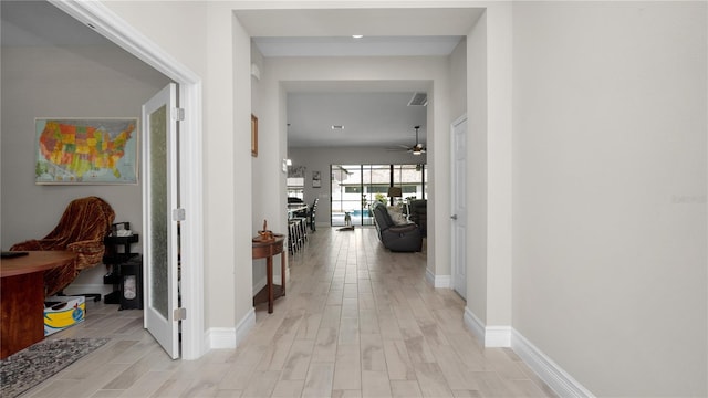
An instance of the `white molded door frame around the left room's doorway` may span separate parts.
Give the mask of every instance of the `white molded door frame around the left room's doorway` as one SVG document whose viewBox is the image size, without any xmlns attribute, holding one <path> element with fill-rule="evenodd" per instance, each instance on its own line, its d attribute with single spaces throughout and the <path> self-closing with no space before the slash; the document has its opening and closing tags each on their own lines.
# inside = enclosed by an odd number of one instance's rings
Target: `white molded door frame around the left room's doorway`
<svg viewBox="0 0 708 398">
<path fill-rule="evenodd" d="M 179 85 L 179 103 L 185 121 L 179 132 L 181 168 L 181 208 L 186 220 L 180 228 L 181 240 L 181 306 L 187 318 L 181 322 L 184 359 L 197 359 L 209 347 L 205 344 L 204 325 L 204 214 L 201 78 L 185 65 L 128 25 L 104 4 L 94 1 L 49 0 L 60 10 L 86 24 L 101 35 L 153 66 Z"/>
</svg>

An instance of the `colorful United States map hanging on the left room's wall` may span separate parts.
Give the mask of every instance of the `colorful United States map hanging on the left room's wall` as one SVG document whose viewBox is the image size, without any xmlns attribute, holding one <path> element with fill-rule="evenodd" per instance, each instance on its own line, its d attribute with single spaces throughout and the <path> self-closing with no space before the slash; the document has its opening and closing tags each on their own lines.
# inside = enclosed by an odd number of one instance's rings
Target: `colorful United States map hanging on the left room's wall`
<svg viewBox="0 0 708 398">
<path fill-rule="evenodd" d="M 137 184 L 138 119 L 34 119 L 34 182 Z"/>
</svg>

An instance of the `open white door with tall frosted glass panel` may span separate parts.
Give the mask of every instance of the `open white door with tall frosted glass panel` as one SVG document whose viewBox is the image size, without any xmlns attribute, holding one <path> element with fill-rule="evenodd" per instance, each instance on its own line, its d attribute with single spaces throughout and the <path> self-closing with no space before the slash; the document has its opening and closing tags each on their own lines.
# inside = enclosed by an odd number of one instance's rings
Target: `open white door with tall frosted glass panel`
<svg viewBox="0 0 708 398">
<path fill-rule="evenodd" d="M 145 328 L 179 357 L 177 85 L 143 105 L 143 241 Z"/>
</svg>

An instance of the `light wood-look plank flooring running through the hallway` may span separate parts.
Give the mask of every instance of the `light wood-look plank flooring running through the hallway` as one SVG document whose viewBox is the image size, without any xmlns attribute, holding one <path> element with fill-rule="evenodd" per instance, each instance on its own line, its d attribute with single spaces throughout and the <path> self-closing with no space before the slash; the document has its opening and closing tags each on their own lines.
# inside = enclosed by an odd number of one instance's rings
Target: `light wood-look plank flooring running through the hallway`
<svg viewBox="0 0 708 398">
<path fill-rule="evenodd" d="M 290 256 L 273 314 L 257 306 L 238 348 L 198 360 L 168 359 L 142 311 L 91 302 L 83 324 L 52 338 L 111 342 L 25 396 L 555 397 L 511 349 L 480 347 L 465 302 L 431 287 L 425 262 L 384 250 L 373 228 L 319 228 Z"/>
</svg>

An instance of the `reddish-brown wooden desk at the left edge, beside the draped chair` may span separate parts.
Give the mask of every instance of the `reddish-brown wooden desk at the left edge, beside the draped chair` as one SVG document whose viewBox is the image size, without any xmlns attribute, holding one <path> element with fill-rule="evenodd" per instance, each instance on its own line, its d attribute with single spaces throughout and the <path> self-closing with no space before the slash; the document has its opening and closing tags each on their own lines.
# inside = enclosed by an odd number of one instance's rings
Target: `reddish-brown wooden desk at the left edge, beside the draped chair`
<svg viewBox="0 0 708 398">
<path fill-rule="evenodd" d="M 44 271 L 73 266 L 71 251 L 30 251 L 0 262 L 0 359 L 44 339 Z"/>
</svg>

